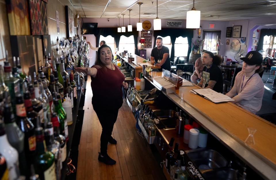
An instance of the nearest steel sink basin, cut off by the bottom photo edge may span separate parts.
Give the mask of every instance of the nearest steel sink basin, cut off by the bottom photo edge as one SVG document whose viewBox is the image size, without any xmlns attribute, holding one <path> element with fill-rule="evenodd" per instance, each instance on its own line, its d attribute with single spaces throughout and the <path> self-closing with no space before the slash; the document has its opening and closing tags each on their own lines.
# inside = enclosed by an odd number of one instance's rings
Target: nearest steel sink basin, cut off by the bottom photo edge
<svg viewBox="0 0 276 180">
<path fill-rule="evenodd" d="M 202 173 L 205 180 L 237 180 L 237 171 L 231 168 L 221 168 Z"/>
</svg>

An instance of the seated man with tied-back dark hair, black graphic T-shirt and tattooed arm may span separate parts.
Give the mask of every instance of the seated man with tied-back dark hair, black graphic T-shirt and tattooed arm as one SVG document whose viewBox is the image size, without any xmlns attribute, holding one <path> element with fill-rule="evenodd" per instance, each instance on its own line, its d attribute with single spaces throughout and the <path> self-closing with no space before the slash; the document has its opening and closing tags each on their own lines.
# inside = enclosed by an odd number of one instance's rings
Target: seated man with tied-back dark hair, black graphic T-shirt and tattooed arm
<svg viewBox="0 0 276 180">
<path fill-rule="evenodd" d="M 210 51 L 202 55 L 202 65 L 205 65 L 202 71 L 201 80 L 198 86 L 210 88 L 218 93 L 223 92 L 222 72 L 218 65 L 221 63 L 219 56 L 214 56 Z"/>
</svg>

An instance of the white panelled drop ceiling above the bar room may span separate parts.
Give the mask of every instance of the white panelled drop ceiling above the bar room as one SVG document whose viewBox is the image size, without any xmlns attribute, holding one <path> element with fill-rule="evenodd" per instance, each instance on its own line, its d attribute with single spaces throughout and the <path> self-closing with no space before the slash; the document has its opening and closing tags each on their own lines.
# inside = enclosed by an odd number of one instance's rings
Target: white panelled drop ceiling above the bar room
<svg viewBox="0 0 276 180">
<path fill-rule="evenodd" d="M 131 18 L 156 18 L 156 0 L 70 0 L 82 18 L 117 18 L 132 9 Z M 266 2 L 266 3 L 262 3 Z M 257 4 L 257 5 L 256 5 Z M 265 4 L 265 5 L 259 5 Z M 161 19 L 186 19 L 186 12 L 193 7 L 193 0 L 158 0 L 158 17 Z M 195 0 L 201 20 L 229 21 L 254 18 L 275 18 L 276 0 Z"/>
</svg>

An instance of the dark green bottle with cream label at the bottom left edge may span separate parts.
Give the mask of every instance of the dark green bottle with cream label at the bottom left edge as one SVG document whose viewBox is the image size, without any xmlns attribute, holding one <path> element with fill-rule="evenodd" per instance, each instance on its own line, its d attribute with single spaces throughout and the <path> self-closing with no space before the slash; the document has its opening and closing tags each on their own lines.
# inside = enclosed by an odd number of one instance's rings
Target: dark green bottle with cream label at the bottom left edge
<svg viewBox="0 0 276 180">
<path fill-rule="evenodd" d="M 34 167 L 41 180 L 53 179 L 55 175 L 55 156 L 46 150 L 42 127 L 35 129 L 37 148 L 35 150 Z"/>
</svg>

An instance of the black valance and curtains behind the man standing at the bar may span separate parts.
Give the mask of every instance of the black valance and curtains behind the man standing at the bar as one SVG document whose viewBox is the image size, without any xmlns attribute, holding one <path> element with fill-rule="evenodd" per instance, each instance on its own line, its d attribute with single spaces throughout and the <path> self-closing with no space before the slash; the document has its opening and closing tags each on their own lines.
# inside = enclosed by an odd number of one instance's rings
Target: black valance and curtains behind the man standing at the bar
<svg viewBox="0 0 276 180">
<path fill-rule="evenodd" d="M 187 54 L 187 60 L 189 59 L 191 53 L 191 42 L 193 38 L 193 29 L 186 29 L 186 28 L 162 28 L 161 30 L 154 31 L 154 47 L 156 45 L 156 38 L 157 36 L 166 37 L 170 36 L 172 41 L 172 49 L 170 54 L 170 59 L 172 60 L 175 57 L 175 40 L 177 37 L 187 37 L 189 49 Z"/>
</svg>

